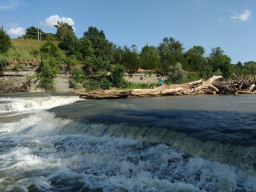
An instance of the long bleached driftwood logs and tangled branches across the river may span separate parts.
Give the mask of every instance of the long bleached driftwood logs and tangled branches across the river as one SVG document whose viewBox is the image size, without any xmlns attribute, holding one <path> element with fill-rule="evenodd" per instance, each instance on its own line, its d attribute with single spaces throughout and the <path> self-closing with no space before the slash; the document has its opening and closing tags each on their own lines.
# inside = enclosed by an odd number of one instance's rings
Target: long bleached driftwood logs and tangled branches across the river
<svg viewBox="0 0 256 192">
<path fill-rule="evenodd" d="M 133 89 L 133 90 L 96 90 L 89 92 L 75 91 L 82 99 L 117 99 L 117 98 L 138 98 L 158 97 L 162 95 L 193 95 L 193 94 L 238 94 L 256 93 L 255 81 L 237 77 L 235 81 L 215 82 L 223 79 L 222 76 L 213 76 L 207 81 L 198 80 L 195 82 L 162 85 L 155 89 Z"/>
</svg>

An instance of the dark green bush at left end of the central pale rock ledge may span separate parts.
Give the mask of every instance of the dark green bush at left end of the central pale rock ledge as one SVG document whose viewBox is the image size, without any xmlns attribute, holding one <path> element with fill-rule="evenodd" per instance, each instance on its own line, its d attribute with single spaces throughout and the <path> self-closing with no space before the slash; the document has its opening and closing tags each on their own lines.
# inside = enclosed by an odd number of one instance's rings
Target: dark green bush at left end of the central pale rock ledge
<svg viewBox="0 0 256 192">
<path fill-rule="evenodd" d="M 114 86 L 120 86 L 124 83 L 125 67 L 117 64 L 111 74 L 112 83 Z"/>
</svg>

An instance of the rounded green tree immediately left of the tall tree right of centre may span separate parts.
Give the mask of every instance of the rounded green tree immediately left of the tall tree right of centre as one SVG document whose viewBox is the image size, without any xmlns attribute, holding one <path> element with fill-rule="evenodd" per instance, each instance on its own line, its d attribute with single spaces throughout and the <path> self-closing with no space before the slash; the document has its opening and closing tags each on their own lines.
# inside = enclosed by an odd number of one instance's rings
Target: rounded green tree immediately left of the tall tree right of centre
<svg viewBox="0 0 256 192">
<path fill-rule="evenodd" d="M 140 52 L 141 68 L 156 69 L 160 64 L 160 56 L 155 46 L 144 46 Z"/>
</svg>

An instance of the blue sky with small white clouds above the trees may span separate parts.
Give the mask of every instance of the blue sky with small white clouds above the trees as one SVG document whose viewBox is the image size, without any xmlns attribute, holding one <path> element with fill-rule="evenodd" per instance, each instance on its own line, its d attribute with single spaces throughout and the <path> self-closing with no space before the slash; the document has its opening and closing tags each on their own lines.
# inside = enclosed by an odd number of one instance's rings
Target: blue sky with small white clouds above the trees
<svg viewBox="0 0 256 192">
<path fill-rule="evenodd" d="M 0 26 L 11 38 L 28 27 L 56 33 L 58 20 L 78 38 L 88 27 L 103 30 L 116 45 L 158 46 L 173 37 L 185 47 L 221 49 L 231 63 L 256 61 L 255 0 L 0 0 Z"/>
</svg>

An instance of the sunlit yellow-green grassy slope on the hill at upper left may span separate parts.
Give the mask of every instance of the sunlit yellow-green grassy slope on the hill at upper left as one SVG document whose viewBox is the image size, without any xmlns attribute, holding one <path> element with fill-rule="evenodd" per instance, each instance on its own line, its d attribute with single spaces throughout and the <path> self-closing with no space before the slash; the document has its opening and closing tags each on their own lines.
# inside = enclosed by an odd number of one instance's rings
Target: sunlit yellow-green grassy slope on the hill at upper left
<svg viewBox="0 0 256 192">
<path fill-rule="evenodd" d="M 31 51 L 39 50 L 44 41 L 37 41 L 33 39 L 11 39 L 12 48 L 6 54 L 0 54 L 0 59 L 6 59 L 9 63 L 13 61 L 30 61 L 40 62 L 40 55 L 32 55 Z M 56 43 L 58 44 L 58 43 Z M 60 50 L 65 55 L 65 53 Z"/>
</svg>

